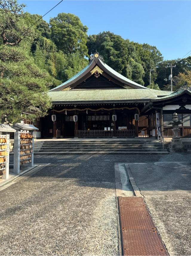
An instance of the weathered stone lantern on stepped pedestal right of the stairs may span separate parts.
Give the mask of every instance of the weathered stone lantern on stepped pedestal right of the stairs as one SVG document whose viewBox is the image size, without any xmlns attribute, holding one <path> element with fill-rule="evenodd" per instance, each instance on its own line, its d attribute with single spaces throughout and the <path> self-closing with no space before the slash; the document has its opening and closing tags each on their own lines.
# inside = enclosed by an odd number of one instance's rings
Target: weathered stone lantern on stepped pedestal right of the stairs
<svg viewBox="0 0 191 256">
<path fill-rule="evenodd" d="M 173 137 L 170 145 L 168 147 L 169 152 L 187 152 L 187 148 L 184 148 L 181 138 L 179 136 L 180 129 L 178 128 L 179 124 L 182 124 L 182 121 L 178 120 L 178 114 L 174 113 L 172 115 L 172 121 L 169 123 L 172 124 Z"/>
</svg>

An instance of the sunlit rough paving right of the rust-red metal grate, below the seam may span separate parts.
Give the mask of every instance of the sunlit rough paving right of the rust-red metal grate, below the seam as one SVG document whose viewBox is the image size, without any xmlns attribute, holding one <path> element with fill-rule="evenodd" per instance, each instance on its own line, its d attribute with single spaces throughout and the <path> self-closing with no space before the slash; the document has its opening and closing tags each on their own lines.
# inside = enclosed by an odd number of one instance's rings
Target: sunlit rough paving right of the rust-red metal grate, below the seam
<svg viewBox="0 0 191 256">
<path fill-rule="evenodd" d="M 191 255 L 191 196 L 146 196 L 147 207 L 170 255 Z"/>
</svg>

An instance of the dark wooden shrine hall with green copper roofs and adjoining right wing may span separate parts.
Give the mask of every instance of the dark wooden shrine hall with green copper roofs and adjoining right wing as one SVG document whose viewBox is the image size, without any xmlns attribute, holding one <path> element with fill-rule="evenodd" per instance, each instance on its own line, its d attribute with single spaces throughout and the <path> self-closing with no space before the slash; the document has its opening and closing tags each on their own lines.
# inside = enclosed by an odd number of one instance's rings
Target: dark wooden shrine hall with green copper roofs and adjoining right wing
<svg viewBox="0 0 191 256">
<path fill-rule="evenodd" d="M 36 137 L 157 137 L 157 133 L 172 137 L 169 122 L 174 112 L 183 121 L 180 135 L 191 136 L 191 91 L 187 87 L 175 92 L 149 89 L 113 70 L 98 53 L 87 67 L 48 95 L 53 109 L 36 121 L 40 131 Z"/>
</svg>

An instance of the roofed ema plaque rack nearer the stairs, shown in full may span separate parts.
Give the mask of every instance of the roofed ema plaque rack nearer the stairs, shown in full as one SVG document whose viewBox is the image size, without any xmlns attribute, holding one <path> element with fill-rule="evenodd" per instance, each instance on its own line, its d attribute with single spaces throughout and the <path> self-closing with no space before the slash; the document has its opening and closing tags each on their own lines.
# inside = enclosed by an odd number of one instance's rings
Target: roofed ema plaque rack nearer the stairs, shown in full
<svg viewBox="0 0 191 256">
<path fill-rule="evenodd" d="M 38 131 L 32 124 L 17 123 L 14 135 L 14 173 L 20 173 L 21 165 L 33 166 L 34 131 Z"/>
</svg>

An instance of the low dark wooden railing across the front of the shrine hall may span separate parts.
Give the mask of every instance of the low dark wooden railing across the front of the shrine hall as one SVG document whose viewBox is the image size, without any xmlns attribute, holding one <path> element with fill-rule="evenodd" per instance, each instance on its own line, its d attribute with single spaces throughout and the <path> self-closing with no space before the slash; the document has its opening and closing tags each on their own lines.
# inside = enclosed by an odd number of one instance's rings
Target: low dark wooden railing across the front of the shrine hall
<svg viewBox="0 0 191 256">
<path fill-rule="evenodd" d="M 115 133 L 115 134 L 114 134 Z M 78 138 L 112 138 L 116 137 L 135 137 L 135 129 L 129 130 L 116 130 L 104 131 L 104 130 L 75 130 L 75 137 Z"/>
</svg>

